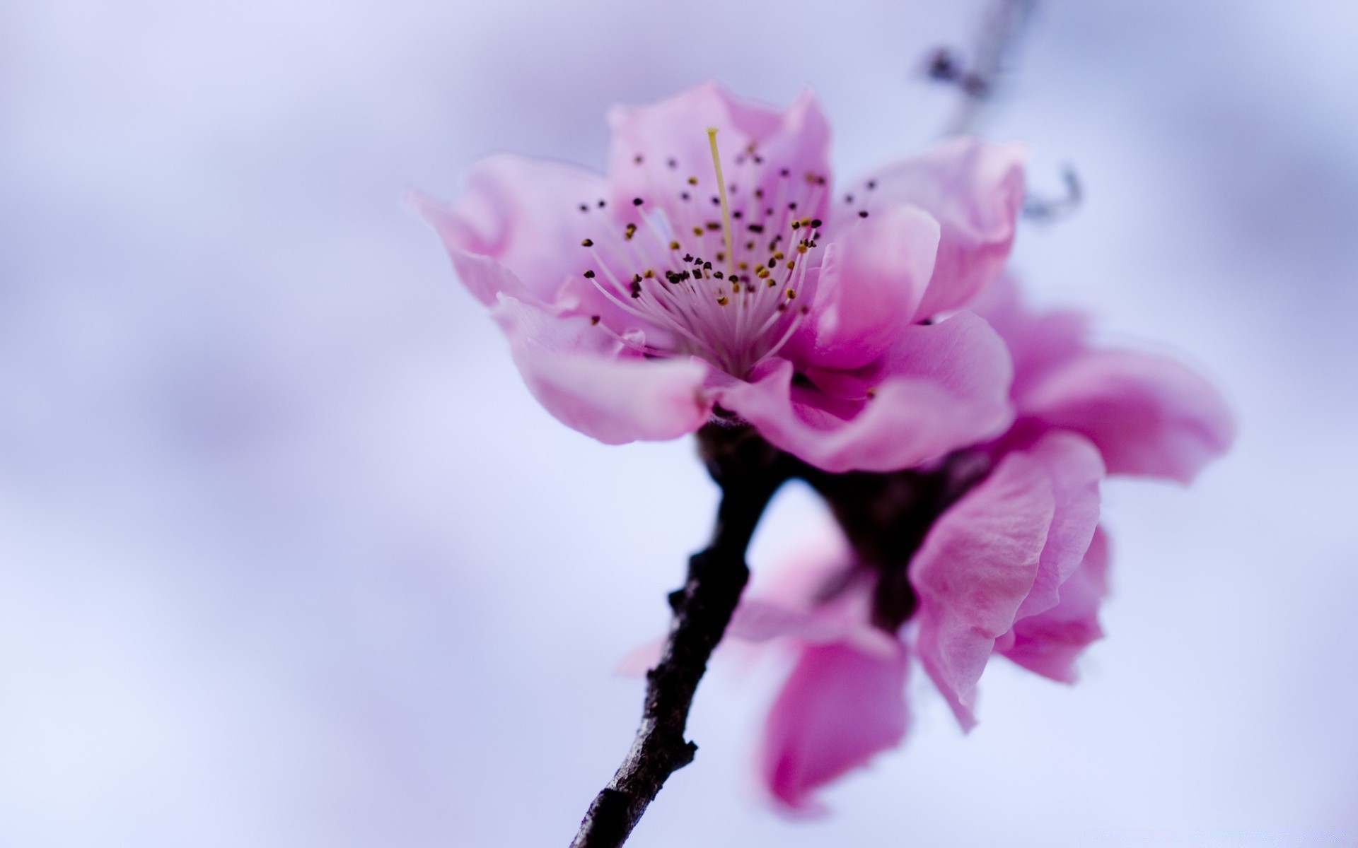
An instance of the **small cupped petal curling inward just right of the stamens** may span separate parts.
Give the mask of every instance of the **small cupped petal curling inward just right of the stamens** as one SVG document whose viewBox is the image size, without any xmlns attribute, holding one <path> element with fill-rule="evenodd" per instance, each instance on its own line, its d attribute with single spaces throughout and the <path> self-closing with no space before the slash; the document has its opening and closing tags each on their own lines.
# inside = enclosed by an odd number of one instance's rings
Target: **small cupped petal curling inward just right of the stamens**
<svg viewBox="0 0 1358 848">
<path fill-rule="evenodd" d="M 826 247 L 807 362 L 858 368 L 880 357 L 913 323 L 937 250 L 938 223 L 902 205 L 887 206 Z"/>
</svg>

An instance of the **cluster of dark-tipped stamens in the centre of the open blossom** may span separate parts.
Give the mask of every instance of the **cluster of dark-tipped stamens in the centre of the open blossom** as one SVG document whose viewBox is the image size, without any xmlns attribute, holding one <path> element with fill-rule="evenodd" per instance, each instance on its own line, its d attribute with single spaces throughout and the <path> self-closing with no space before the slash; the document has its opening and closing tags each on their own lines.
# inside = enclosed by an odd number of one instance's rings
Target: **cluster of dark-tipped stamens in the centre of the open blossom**
<svg viewBox="0 0 1358 848">
<path fill-rule="evenodd" d="M 803 216 L 818 208 L 826 178 L 766 166 L 751 144 L 728 183 L 717 130 L 708 138 L 714 209 L 703 212 L 695 197 L 708 180 L 680 178 L 669 159 L 661 178 L 652 176 L 661 183 L 649 193 L 656 199 L 637 197 L 623 223 L 610 220 L 581 243 L 593 261 L 584 277 L 641 322 L 641 334 L 603 323 L 622 343 L 646 355 L 699 355 L 743 379 L 788 343 L 807 313 L 794 301 L 819 266 L 822 223 Z"/>
</svg>

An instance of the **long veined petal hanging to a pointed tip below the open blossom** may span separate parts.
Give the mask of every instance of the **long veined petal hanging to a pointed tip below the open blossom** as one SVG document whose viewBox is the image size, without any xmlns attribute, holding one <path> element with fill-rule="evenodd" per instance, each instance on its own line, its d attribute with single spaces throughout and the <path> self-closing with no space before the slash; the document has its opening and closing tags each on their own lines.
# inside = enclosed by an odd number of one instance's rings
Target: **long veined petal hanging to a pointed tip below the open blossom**
<svg viewBox="0 0 1358 848">
<path fill-rule="evenodd" d="M 1032 589 L 1055 509 L 1043 464 L 1013 453 L 944 513 L 910 563 L 919 659 L 967 730 L 976 681 Z"/>
</svg>

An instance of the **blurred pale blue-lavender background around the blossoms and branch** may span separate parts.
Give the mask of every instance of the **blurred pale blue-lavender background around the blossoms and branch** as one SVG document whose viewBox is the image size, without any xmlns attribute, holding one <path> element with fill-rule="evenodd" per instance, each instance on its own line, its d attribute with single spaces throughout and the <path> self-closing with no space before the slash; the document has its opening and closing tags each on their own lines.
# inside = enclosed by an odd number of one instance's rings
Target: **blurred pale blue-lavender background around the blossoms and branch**
<svg viewBox="0 0 1358 848">
<path fill-rule="evenodd" d="M 607 104 L 713 76 L 812 85 L 861 172 L 938 132 L 911 75 L 980 8 L 0 5 L 0 845 L 566 844 L 714 493 L 540 411 L 402 193 L 599 166 Z M 1107 487 L 1085 680 L 997 662 L 963 738 L 917 676 L 807 824 L 751 791 L 770 678 L 728 668 L 633 844 L 1353 844 L 1354 8 L 1054 1 L 985 128 L 1088 187 L 1020 236 L 1038 298 L 1243 422 L 1192 490 Z"/>
</svg>

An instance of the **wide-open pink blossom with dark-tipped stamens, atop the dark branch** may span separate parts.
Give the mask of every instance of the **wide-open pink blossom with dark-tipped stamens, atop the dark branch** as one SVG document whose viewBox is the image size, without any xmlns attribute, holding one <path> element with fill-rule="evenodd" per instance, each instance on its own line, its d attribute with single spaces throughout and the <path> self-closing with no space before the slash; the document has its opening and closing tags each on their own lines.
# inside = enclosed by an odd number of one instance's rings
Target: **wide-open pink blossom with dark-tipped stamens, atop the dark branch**
<svg viewBox="0 0 1358 848">
<path fill-rule="evenodd" d="M 828 471 L 1009 426 L 1008 353 L 956 309 L 1009 252 L 1021 148 L 953 140 L 835 194 L 809 95 L 709 83 L 608 123 L 606 175 L 494 156 L 454 205 L 414 198 L 553 415 L 618 444 L 717 410 Z"/>
</svg>

